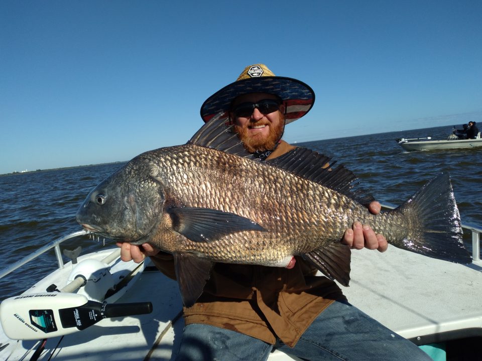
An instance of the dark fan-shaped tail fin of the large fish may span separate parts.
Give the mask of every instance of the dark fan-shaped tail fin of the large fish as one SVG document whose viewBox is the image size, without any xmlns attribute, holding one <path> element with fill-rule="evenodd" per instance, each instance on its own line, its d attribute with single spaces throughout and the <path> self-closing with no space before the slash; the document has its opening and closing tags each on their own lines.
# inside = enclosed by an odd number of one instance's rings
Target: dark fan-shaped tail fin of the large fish
<svg viewBox="0 0 482 361">
<path fill-rule="evenodd" d="M 448 173 L 431 179 L 397 210 L 408 218 L 410 229 L 402 241 L 391 242 L 395 247 L 455 263 L 472 262 L 463 246 L 460 214 Z"/>
</svg>

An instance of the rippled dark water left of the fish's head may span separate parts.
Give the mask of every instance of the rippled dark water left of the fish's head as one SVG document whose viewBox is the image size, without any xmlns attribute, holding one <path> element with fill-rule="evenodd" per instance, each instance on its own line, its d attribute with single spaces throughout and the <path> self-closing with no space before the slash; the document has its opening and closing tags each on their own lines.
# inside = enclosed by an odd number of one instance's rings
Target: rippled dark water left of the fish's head
<svg viewBox="0 0 482 361">
<path fill-rule="evenodd" d="M 121 164 L 38 171 L 0 177 L 0 237 L 4 252 L 0 269 L 66 234 L 80 231 L 75 213 L 87 194 Z M 70 240 L 61 249 L 78 245 L 88 252 L 101 245 L 87 237 Z M 110 245 L 112 246 L 112 245 Z M 67 261 L 67 259 L 65 259 Z M 57 264 L 49 251 L 0 281 L 0 299 L 21 293 Z"/>
</svg>

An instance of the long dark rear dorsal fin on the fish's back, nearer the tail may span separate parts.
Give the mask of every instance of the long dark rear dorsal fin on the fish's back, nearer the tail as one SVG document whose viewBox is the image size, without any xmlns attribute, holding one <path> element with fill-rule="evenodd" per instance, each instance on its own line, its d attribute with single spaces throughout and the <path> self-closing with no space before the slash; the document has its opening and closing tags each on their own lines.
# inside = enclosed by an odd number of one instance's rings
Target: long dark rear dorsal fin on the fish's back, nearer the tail
<svg viewBox="0 0 482 361">
<path fill-rule="evenodd" d="M 363 189 L 354 189 L 359 182 L 355 182 L 357 178 L 351 170 L 342 164 L 333 168 L 336 161 L 327 166 L 330 160 L 330 157 L 311 149 L 297 147 L 277 158 L 266 160 L 266 163 L 330 188 L 361 204 L 368 205 L 375 200 Z"/>
</svg>

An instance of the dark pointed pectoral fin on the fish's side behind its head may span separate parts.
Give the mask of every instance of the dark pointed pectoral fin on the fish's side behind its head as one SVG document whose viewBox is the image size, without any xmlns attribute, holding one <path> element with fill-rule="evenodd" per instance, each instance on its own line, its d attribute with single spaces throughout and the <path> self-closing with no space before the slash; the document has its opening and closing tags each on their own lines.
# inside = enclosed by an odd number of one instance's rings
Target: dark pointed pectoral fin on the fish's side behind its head
<svg viewBox="0 0 482 361">
<path fill-rule="evenodd" d="M 194 242 L 210 242 L 235 232 L 266 231 L 248 218 L 210 208 L 171 208 L 168 213 L 174 230 Z"/>
</svg>

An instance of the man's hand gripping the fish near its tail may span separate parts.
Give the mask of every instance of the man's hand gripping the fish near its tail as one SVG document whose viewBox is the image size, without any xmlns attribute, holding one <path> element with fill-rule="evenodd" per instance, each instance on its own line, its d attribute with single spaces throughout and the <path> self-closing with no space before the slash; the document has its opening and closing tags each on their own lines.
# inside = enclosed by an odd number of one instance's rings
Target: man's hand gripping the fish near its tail
<svg viewBox="0 0 482 361">
<path fill-rule="evenodd" d="M 370 213 L 379 214 L 382 206 L 379 202 L 372 202 L 368 206 Z M 369 225 L 362 225 L 360 222 L 354 222 L 351 229 L 347 229 L 343 235 L 341 243 L 344 243 L 350 248 L 362 249 L 376 249 L 379 252 L 385 252 L 388 248 L 387 240 L 381 234 L 375 234 L 372 227 Z"/>
</svg>

